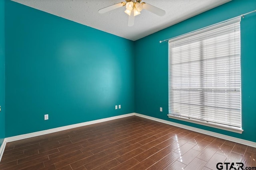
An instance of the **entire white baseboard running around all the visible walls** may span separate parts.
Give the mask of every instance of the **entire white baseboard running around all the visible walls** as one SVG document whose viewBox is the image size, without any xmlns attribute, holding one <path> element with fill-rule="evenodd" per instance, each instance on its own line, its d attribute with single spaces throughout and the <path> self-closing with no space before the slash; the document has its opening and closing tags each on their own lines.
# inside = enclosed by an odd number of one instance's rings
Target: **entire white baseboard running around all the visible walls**
<svg viewBox="0 0 256 170">
<path fill-rule="evenodd" d="M 199 129 L 199 128 L 196 128 L 196 127 L 182 125 L 180 123 L 166 121 L 166 120 L 163 120 L 163 119 L 158 119 L 156 117 L 142 115 L 142 114 L 139 114 L 139 113 L 128 113 L 128 114 L 124 114 L 124 115 L 108 117 L 108 118 L 98 119 L 98 120 L 94 120 L 94 121 L 87 121 L 87 122 L 83 122 L 83 123 L 77 123 L 77 124 L 74 124 L 74 125 L 57 127 L 57 128 L 53 128 L 53 129 L 48 129 L 48 130 L 44 130 L 44 131 L 28 133 L 28 134 L 24 134 L 24 135 L 18 135 L 18 136 L 14 136 L 14 137 L 7 137 L 7 138 L 4 139 L 4 143 L 2 144 L 2 146 L 0 148 L 0 160 L 2 158 L 1 156 L 2 156 L 2 153 L 4 151 L 4 148 L 5 148 L 5 145 L 6 145 L 7 142 L 18 141 L 18 140 L 21 140 L 21 139 L 27 139 L 27 138 L 30 138 L 30 137 L 46 135 L 46 134 L 49 134 L 49 133 L 54 133 L 54 132 L 58 132 L 58 131 L 64 131 L 64 130 L 68 130 L 68 129 L 72 129 L 72 128 L 76 128 L 76 127 L 92 125 L 92 124 L 95 124 L 95 123 L 101 123 L 101 122 L 104 122 L 104 121 L 110 121 L 110 120 L 119 119 L 119 118 L 128 117 L 128 116 L 133 116 L 133 115 L 136 115 L 136 116 L 139 116 L 139 117 L 144 117 L 146 119 L 150 119 L 150 120 L 166 123 L 168 125 L 173 125 L 173 126 L 180 127 L 180 128 L 183 128 L 183 129 L 188 129 L 188 130 L 195 131 L 195 132 L 198 132 L 198 133 L 203 133 L 205 135 L 210 135 L 210 136 L 213 136 L 213 137 L 218 137 L 220 139 L 225 139 L 225 140 L 228 140 L 228 141 L 232 141 L 232 142 L 236 142 L 236 143 L 240 143 L 240 144 L 243 144 L 243 145 L 247 145 L 247 146 L 256 148 L 256 143 L 252 142 L 252 141 L 247 141 L 247 140 L 244 140 L 244 139 L 239 139 L 239 138 L 236 138 L 236 137 L 231 137 L 231 136 L 223 135 L 223 134 L 220 134 L 220 133 L 215 133 L 215 132 L 212 132 L 212 131 L 206 131 L 204 129 Z"/>
</svg>

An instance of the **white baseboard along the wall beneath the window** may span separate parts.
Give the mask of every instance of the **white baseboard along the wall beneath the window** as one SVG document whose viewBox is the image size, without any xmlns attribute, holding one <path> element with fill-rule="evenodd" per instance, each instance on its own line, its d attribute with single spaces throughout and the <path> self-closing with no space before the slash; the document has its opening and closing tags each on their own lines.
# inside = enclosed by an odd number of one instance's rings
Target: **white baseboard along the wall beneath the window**
<svg viewBox="0 0 256 170">
<path fill-rule="evenodd" d="M 142 114 L 139 114 L 139 113 L 135 113 L 134 115 L 139 116 L 139 117 L 144 117 L 146 119 L 150 119 L 150 120 L 166 123 L 168 125 L 173 125 L 173 126 L 176 126 L 176 127 L 181 127 L 183 129 L 188 129 L 190 131 L 195 131 L 195 132 L 198 132 L 198 133 L 203 133 L 205 135 L 210 135 L 210 136 L 213 136 L 213 137 L 218 137 L 220 139 L 225 139 L 225 140 L 228 140 L 228 141 L 232 141 L 232 142 L 235 142 L 235 143 L 240 143 L 242 145 L 247 145 L 247 146 L 256 148 L 256 142 L 247 141 L 247 140 L 236 138 L 236 137 L 231 137 L 231 136 L 228 136 L 228 135 L 223 135 L 223 134 L 215 133 L 215 132 L 212 132 L 212 131 L 206 131 L 204 129 L 199 129 L 199 128 L 196 128 L 196 127 L 182 125 L 180 123 L 175 123 L 175 122 L 172 122 L 172 121 L 158 119 L 156 117 L 146 116 L 146 115 L 142 115 Z"/>
</svg>

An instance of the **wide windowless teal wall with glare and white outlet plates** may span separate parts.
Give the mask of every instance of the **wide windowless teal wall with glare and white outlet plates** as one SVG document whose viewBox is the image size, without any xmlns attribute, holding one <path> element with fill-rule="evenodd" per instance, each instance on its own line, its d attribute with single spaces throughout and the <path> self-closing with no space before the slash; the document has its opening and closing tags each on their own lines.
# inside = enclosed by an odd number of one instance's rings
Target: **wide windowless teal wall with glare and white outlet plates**
<svg viewBox="0 0 256 170">
<path fill-rule="evenodd" d="M 133 41 L 10 0 L 5 17 L 6 137 L 134 112 Z"/>
</svg>

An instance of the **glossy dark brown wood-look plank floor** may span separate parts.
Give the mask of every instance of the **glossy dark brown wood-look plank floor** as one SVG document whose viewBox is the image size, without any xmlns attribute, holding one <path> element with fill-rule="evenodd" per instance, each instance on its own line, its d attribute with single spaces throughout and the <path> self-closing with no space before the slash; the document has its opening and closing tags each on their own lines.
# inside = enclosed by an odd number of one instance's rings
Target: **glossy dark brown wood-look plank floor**
<svg viewBox="0 0 256 170">
<path fill-rule="evenodd" d="M 0 170 L 216 170 L 218 162 L 256 167 L 256 148 L 131 116 L 7 143 Z"/>
</svg>

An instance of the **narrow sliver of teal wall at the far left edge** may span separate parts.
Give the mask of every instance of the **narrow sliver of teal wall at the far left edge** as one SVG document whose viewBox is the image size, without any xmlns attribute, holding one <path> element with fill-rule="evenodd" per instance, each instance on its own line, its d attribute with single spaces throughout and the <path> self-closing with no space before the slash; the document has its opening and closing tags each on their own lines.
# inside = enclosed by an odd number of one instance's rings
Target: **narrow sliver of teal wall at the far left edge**
<svg viewBox="0 0 256 170">
<path fill-rule="evenodd" d="M 4 0 L 0 0 L 0 147 L 5 137 L 4 118 Z"/>
</svg>

